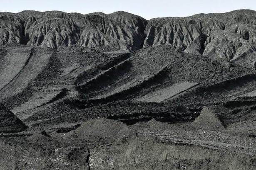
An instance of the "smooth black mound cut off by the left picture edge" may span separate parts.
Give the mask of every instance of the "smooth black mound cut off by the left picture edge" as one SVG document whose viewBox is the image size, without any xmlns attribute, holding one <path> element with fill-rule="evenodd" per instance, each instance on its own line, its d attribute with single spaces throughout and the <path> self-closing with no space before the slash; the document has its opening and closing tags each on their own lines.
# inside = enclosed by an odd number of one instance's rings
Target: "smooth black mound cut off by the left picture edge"
<svg viewBox="0 0 256 170">
<path fill-rule="evenodd" d="M 0 103 L 0 132 L 20 132 L 25 129 L 27 126 Z"/>
</svg>

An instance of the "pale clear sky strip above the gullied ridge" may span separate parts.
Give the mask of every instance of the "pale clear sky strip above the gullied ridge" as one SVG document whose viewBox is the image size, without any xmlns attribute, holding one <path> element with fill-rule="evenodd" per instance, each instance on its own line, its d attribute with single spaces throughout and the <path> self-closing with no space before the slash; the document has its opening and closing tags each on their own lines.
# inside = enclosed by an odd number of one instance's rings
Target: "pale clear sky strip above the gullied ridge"
<svg viewBox="0 0 256 170">
<path fill-rule="evenodd" d="M 109 14 L 126 11 L 152 19 L 155 17 L 186 17 L 199 13 L 256 10 L 256 0 L 0 0 L 0 12 L 23 10 Z"/>
</svg>

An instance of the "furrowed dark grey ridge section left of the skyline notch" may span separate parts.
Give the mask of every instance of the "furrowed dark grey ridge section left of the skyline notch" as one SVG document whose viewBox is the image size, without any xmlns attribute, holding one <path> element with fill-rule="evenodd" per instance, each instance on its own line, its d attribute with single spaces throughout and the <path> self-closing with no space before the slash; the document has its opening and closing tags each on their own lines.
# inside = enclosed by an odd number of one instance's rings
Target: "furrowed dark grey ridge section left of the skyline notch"
<svg viewBox="0 0 256 170">
<path fill-rule="evenodd" d="M 109 46 L 114 49 L 141 48 L 147 21 L 127 12 L 82 15 L 59 11 L 0 13 L 0 46 L 20 43 L 57 49 L 61 45 Z"/>
</svg>

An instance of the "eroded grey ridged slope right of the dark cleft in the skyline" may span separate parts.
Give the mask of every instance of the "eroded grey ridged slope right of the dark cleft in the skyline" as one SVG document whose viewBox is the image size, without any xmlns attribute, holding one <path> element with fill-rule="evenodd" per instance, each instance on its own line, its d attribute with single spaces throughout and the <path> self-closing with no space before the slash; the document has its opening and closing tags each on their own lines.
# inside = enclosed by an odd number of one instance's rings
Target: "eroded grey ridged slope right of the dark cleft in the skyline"
<svg viewBox="0 0 256 170">
<path fill-rule="evenodd" d="M 255 24 L 256 12 L 251 10 L 155 18 L 145 29 L 144 47 L 171 44 L 180 51 L 251 63 L 255 59 Z"/>
</svg>

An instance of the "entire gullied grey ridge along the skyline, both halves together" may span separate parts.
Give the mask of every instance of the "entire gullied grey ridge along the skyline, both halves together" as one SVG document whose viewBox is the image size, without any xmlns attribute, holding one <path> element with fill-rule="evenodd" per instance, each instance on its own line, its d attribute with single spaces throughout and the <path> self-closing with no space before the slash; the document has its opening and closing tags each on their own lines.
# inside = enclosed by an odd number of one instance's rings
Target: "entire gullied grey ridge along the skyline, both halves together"
<svg viewBox="0 0 256 170">
<path fill-rule="evenodd" d="M 172 45 L 180 51 L 220 57 L 240 65 L 255 65 L 256 12 L 198 14 L 154 18 L 149 21 L 127 12 L 65 13 L 23 11 L 0 13 L 0 46 L 7 43 L 47 46 L 77 44 L 133 51 Z"/>
</svg>

